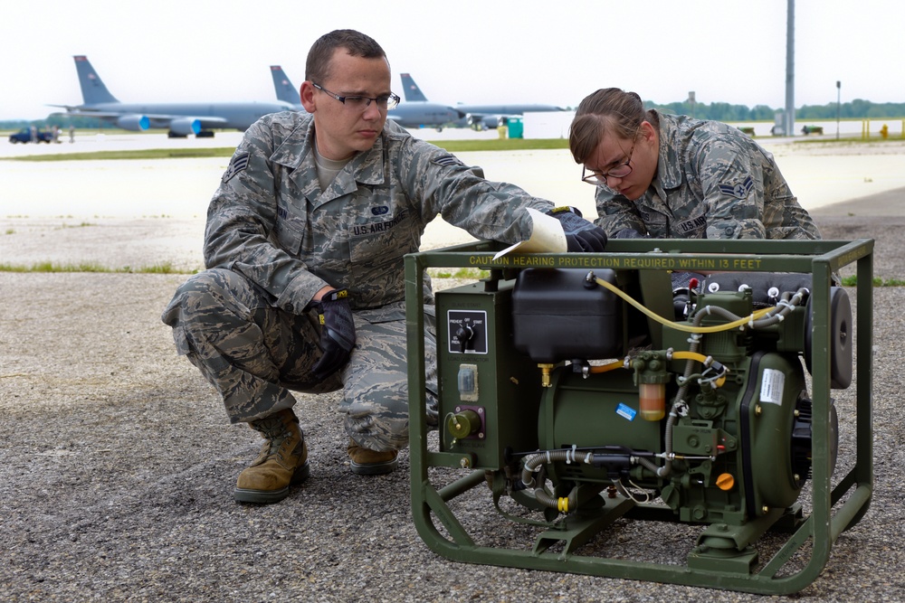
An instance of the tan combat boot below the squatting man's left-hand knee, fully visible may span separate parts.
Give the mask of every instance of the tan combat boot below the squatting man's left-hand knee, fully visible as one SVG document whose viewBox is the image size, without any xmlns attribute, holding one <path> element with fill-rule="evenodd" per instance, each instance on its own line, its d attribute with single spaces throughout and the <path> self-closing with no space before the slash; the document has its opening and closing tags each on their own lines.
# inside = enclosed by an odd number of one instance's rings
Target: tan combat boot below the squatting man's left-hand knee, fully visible
<svg viewBox="0 0 905 603">
<path fill-rule="evenodd" d="M 251 421 L 266 441 L 251 466 L 239 474 L 233 496 L 240 503 L 270 504 L 289 495 L 310 474 L 308 446 L 291 409 Z"/>
</svg>

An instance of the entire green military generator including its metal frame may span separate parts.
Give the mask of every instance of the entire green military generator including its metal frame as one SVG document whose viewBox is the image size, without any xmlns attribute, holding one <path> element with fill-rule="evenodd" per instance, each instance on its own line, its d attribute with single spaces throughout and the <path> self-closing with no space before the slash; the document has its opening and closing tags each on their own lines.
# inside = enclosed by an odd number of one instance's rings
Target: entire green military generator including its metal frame
<svg viewBox="0 0 905 603">
<path fill-rule="evenodd" d="M 406 258 L 412 505 L 427 546 L 767 594 L 810 584 L 872 496 L 873 241 L 500 249 Z M 432 268 L 476 275 L 435 296 L 436 429 Z M 831 391 L 853 398 L 846 410 Z"/>
</svg>

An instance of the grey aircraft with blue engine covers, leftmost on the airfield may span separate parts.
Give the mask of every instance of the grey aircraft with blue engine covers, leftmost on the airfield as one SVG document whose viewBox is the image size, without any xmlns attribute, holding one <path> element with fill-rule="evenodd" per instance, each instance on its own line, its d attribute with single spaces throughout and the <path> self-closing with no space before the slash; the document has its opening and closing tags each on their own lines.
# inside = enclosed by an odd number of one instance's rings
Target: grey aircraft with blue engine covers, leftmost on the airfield
<svg viewBox="0 0 905 603">
<path fill-rule="evenodd" d="M 88 57 L 73 58 L 84 102 L 54 107 L 65 108 L 70 115 L 100 118 L 127 130 L 166 127 L 170 137 L 213 137 L 212 128 L 245 130 L 264 115 L 293 110 L 281 101 L 123 103 L 110 94 Z"/>
</svg>

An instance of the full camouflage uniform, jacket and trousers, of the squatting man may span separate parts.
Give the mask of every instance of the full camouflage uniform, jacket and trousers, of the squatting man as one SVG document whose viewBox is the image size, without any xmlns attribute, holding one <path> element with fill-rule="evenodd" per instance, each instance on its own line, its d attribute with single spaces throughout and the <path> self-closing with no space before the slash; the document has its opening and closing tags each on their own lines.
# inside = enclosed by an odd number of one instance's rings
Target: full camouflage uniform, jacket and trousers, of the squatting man
<svg viewBox="0 0 905 603">
<path fill-rule="evenodd" d="M 290 390 L 342 389 L 340 410 L 359 446 L 404 448 L 403 257 L 438 214 L 479 239 L 512 243 L 530 236 L 526 208 L 552 203 L 484 180 L 480 168 L 390 121 L 321 191 L 313 126 L 309 115 L 288 112 L 249 128 L 208 209 L 208 269 L 178 288 L 162 319 L 179 353 L 220 391 L 231 421 L 291 407 Z M 310 368 L 321 355 L 320 326 L 309 303 L 326 286 L 348 288 L 357 343 L 342 369 L 317 382 Z M 425 313 L 433 326 L 433 306 Z M 433 333 L 425 347 L 431 407 Z"/>
</svg>

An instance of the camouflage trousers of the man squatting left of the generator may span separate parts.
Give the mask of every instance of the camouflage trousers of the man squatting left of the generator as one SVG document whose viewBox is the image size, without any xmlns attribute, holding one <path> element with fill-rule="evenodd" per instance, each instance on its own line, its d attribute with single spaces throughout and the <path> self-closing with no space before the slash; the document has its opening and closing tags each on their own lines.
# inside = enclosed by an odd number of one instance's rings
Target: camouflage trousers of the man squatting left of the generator
<svg viewBox="0 0 905 603">
<path fill-rule="evenodd" d="M 433 311 L 433 307 L 430 308 Z M 214 385 L 232 423 L 291 408 L 292 391 L 342 390 L 346 431 L 362 448 L 398 450 L 408 444 L 408 372 L 405 319 L 369 322 L 355 317 L 349 362 L 317 382 L 310 368 L 321 355 L 317 313 L 294 315 L 267 302 L 247 278 L 227 269 L 188 278 L 161 319 L 173 327 L 178 353 Z M 436 338 L 425 312 L 427 422 L 437 422 Z"/>
</svg>

